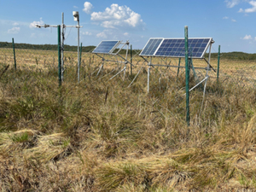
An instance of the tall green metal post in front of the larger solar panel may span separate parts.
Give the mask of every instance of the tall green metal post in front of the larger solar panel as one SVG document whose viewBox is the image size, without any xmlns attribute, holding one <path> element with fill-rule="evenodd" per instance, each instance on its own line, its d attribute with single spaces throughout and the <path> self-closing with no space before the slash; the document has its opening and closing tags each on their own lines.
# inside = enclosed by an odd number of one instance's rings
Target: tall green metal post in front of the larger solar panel
<svg viewBox="0 0 256 192">
<path fill-rule="evenodd" d="M 188 26 L 185 26 L 185 62 L 186 62 L 186 121 L 189 126 L 190 114 L 189 114 L 189 40 L 188 40 Z"/>
</svg>

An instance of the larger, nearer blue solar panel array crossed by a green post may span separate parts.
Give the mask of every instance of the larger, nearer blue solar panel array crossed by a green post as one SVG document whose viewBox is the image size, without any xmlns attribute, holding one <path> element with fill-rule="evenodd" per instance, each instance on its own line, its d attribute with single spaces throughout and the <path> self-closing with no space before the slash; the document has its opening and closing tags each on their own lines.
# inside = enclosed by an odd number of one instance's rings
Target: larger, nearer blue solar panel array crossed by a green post
<svg viewBox="0 0 256 192">
<path fill-rule="evenodd" d="M 185 56 L 184 38 L 161 38 L 162 41 L 160 41 L 157 48 L 155 48 L 154 44 L 149 44 L 152 39 L 149 39 L 148 44 L 146 44 L 140 55 L 166 57 Z M 212 38 L 189 38 L 189 56 L 193 58 L 202 58 L 211 42 Z"/>
</svg>

